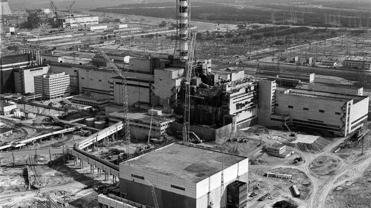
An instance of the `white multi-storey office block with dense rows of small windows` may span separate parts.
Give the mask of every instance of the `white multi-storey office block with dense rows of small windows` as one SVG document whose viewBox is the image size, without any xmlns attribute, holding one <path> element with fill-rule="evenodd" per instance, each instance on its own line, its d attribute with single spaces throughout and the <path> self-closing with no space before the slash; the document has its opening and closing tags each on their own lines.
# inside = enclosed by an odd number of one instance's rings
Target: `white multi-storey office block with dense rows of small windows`
<svg viewBox="0 0 371 208">
<path fill-rule="evenodd" d="M 35 92 L 43 99 L 55 99 L 70 95 L 70 75 L 65 72 L 48 73 L 34 77 Z"/>
</svg>

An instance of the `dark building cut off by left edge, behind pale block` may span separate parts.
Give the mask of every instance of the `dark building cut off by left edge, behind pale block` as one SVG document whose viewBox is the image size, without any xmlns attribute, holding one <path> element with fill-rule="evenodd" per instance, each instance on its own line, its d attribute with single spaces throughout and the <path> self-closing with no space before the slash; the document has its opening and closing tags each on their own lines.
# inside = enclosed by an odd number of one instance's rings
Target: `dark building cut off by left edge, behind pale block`
<svg viewBox="0 0 371 208">
<path fill-rule="evenodd" d="M 0 58 L 0 94 L 14 92 L 14 68 L 23 68 L 30 65 L 31 54 L 18 54 Z"/>
</svg>

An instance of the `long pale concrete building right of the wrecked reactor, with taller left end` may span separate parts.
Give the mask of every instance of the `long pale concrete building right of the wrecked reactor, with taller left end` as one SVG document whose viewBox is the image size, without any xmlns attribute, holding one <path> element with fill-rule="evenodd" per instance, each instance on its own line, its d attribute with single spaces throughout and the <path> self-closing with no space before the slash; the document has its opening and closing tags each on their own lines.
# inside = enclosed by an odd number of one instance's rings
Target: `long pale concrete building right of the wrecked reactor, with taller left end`
<svg viewBox="0 0 371 208">
<path fill-rule="evenodd" d="M 368 107 L 368 96 L 277 88 L 275 81 L 259 81 L 258 122 L 262 125 L 290 122 L 347 136 L 364 126 Z"/>
</svg>

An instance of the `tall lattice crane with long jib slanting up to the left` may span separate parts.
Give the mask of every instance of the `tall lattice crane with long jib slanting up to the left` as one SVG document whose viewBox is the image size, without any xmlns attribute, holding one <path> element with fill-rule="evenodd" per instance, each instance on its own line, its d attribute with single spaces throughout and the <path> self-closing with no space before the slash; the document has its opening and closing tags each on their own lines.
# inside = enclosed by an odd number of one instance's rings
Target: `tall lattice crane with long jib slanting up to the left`
<svg viewBox="0 0 371 208">
<path fill-rule="evenodd" d="M 71 15 L 74 18 L 74 15 Z M 86 32 L 86 29 L 74 18 L 74 21 L 77 23 L 77 25 Z M 88 38 L 94 42 L 95 45 L 98 45 L 98 41 L 96 39 L 93 39 L 92 36 L 86 32 L 86 35 Z M 110 59 L 107 54 L 100 48 L 97 47 L 98 51 L 102 54 L 104 59 L 108 62 L 110 62 L 111 67 L 113 70 L 121 77 L 122 79 L 122 97 L 123 97 L 123 117 L 124 117 L 124 130 L 125 130 L 125 142 L 126 142 L 126 154 L 127 159 L 130 159 L 130 151 L 129 151 L 129 144 L 130 144 L 130 126 L 129 126 L 129 101 L 128 101 L 128 94 L 127 94 L 127 80 L 124 76 L 124 70 L 118 69 L 116 64 L 113 63 L 112 59 Z"/>
</svg>

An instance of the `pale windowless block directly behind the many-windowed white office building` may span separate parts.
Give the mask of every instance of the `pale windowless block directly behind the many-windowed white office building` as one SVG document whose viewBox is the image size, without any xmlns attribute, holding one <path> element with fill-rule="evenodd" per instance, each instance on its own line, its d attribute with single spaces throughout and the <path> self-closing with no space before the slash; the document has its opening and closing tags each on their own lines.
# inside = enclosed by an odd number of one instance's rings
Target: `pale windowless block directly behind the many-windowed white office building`
<svg viewBox="0 0 371 208">
<path fill-rule="evenodd" d="M 49 65 L 44 65 L 14 69 L 15 92 L 23 94 L 34 93 L 34 77 L 48 73 L 49 68 Z"/>
</svg>

